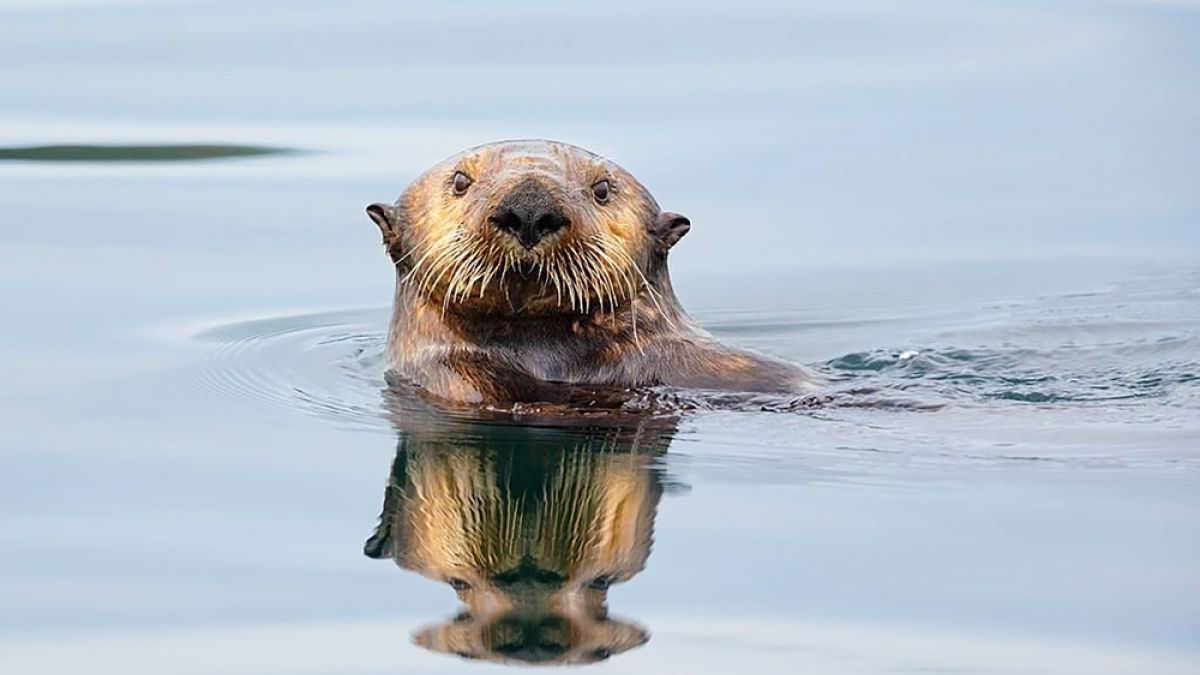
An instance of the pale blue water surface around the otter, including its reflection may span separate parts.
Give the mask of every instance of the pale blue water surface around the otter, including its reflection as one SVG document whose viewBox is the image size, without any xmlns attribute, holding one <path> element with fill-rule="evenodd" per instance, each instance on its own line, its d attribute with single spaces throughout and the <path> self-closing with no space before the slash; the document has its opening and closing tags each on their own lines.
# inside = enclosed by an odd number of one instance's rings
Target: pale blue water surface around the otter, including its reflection
<svg viewBox="0 0 1200 675">
<path fill-rule="evenodd" d="M 1200 671 L 1198 29 L 0 1 L 0 670 Z M 389 394 L 362 207 L 528 136 L 688 214 L 684 304 L 830 400 Z"/>
</svg>

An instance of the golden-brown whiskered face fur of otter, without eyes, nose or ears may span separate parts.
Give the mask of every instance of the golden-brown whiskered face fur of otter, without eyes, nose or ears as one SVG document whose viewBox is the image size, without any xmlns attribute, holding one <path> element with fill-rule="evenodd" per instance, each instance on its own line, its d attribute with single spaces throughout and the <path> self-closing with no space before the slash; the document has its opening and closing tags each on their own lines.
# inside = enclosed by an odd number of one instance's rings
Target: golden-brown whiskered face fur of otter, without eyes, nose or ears
<svg viewBox="0 0 1200 675">
<path fill-rule="evenodd" d="M 456 171 L 474 179 L 461 196 L 446 178 Z M 571 225 L 527 251 L 488 216 L 528 178 L 556 195 Z M 605 204 L 590 196 L 600 179 L 613 186 Z M 517 280 L 541 287 L 542 311 L 548 305 L 581 315 L 616 312 L 638 293 L 658 295 L 644 271 L 646 222 L 656 204 L 620 167 L 577 148 L 516 142 L 468 150 L 414 181 L 402 207 L 412 222 L 396 264 L 403 282 L 443 313 L 521 310 L 509 285 Z"/>
</svg>

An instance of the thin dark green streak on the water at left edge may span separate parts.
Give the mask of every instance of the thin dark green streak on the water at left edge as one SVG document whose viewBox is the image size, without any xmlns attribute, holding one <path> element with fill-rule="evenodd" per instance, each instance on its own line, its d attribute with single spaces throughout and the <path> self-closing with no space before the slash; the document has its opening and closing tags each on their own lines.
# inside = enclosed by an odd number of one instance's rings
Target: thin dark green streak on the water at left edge
<svg viewBox="0 0 1200 675">
<path fill-rule="evenodd" d="M 26 162 L 187 162 L 295 153 L 289 148 L 229 144 L 28 145 L 0 148 L 0 161 Z"/>
</svg>

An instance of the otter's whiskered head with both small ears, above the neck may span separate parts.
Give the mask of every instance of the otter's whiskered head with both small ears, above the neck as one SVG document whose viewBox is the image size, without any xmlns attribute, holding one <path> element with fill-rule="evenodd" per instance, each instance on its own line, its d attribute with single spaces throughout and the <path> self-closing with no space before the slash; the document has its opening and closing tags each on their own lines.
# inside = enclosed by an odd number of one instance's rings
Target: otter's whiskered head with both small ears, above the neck
<svg viewBox="0 0 1200 675">
<path fill-rule="evenodd" d="M 551 141 L 473 148 L 367 214 L 401 282 L 443 312 L 616 310 L 656 292 L 690 227 L 619 166 Z"/>
</svg>

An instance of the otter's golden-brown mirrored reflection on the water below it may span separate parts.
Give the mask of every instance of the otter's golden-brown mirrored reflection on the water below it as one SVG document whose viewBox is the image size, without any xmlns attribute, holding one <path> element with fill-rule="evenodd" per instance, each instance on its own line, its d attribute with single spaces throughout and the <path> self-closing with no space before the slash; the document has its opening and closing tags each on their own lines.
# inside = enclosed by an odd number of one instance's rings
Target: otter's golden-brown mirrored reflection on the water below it
<svg viewBox="0 0 1200 675">
<path fill-rule="evenodd" d="M 466 608 L 426 649 L 506 663 L 590 663 L 644 644 L 608 616 L 608 587 L 650 552 L 655 455 L 673 423 L 546 429 L 469 424 L 401 432 L 365 546 L 449 584 Z"/>
</svg>

